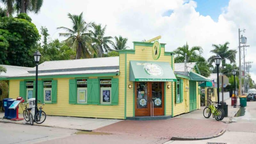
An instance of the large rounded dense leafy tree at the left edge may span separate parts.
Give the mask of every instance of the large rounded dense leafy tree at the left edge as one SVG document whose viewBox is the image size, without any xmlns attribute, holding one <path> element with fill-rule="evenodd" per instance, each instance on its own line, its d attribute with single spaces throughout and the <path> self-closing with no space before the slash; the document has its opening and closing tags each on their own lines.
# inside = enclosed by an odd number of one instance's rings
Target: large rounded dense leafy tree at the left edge
<svg viewBox="0 0 256 144">
<path fill-rule="evenodd" d="M 19 19 L 21 15 L 0 18 L 0 64 L 33 67 L 40 35 L 33 23 Z"/>
</svg>

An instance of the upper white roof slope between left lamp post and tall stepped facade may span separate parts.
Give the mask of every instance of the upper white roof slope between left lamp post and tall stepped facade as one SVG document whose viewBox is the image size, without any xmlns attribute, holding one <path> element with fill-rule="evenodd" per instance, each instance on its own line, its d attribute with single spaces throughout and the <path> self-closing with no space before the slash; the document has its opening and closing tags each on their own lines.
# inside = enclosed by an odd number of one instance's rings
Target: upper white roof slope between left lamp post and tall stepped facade
<svg viewBox="0 0 256 144">
<path fill-rule="evenodd" d="M 91 58 L 91 59 L 78 59 L 78 60 L 45 61 L 42 64 L 38 65 L 38 70 L 44 71 L 44 70 L 113 67 L 113 66 L 119 66 L 119 57 L 118 56 L 117 57 Z M 36 67 L 31 69 L 31 71 L 36 71 Z"/>
</svg>

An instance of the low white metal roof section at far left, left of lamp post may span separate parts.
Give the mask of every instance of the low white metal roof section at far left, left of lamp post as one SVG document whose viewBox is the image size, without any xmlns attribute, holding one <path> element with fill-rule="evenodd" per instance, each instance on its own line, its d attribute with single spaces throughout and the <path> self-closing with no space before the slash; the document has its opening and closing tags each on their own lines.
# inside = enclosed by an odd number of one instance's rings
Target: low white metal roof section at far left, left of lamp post
<svg viewBox="0 0 256 144">
<path fill-rule="evenodd" d="M 6 68 L 6 73 L 4 72 L 0 73 L 0 77 L 28 74 L 28 70 L 32 69 L 29 67 L 18 67 L 18 66 L 10 66 L 10 65 L 1 65 L 1 66 L 4 66 Z"/>
</svg>

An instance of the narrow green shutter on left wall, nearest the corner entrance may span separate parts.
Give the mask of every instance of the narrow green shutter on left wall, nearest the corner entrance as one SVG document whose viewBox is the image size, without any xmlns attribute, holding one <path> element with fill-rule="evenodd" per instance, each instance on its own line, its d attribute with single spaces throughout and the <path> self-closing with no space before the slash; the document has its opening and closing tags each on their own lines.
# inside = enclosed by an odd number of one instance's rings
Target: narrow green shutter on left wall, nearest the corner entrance
<svg viewBox="0 0 256 144">
<path fill-rule="evenodd" d="M 111 104 L 112 105 L 118 105 L 118 93 L 119 93 L 119 87 L 118 87 L 118 78 L 112 78 L 111 79 Z"/>
</svg>

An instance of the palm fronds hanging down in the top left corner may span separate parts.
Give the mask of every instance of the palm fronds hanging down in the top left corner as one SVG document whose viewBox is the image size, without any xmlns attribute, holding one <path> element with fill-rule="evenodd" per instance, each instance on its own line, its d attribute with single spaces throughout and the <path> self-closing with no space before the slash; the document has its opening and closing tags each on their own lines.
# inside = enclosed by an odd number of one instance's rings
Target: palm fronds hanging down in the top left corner
<svg viewBox="0 0 256 144">
<path fill-rule="evenodd" d="M 43 0 L 1 0 L 7 7 L 7 16 L 12 15 L 14 9 L 17 13 L 38 13 L 43 5 Z"/>
</svg>

